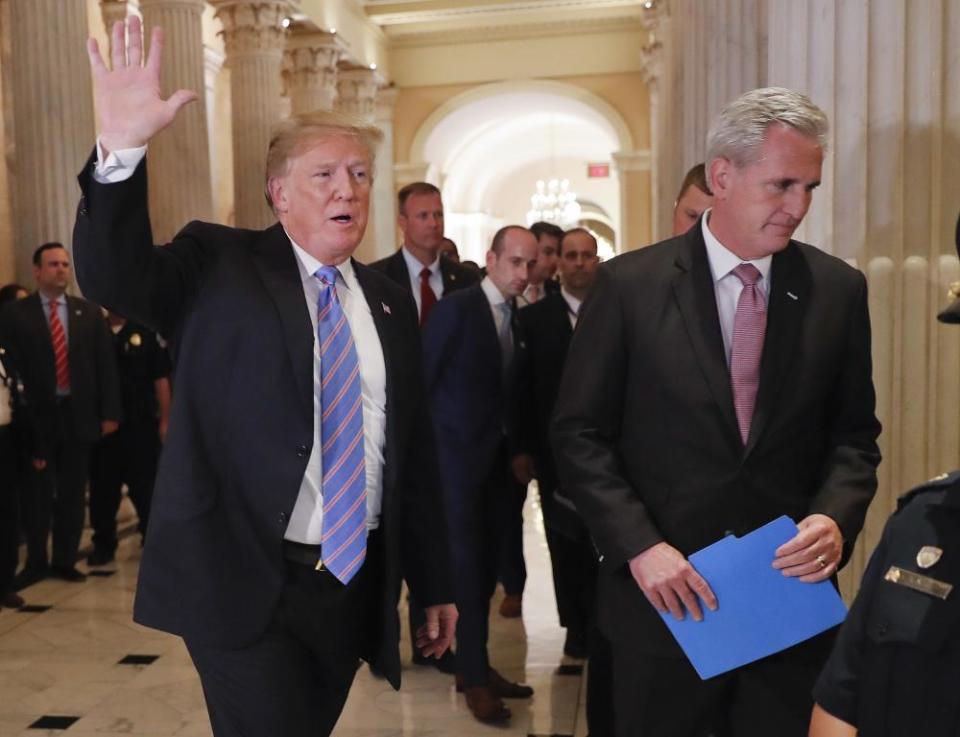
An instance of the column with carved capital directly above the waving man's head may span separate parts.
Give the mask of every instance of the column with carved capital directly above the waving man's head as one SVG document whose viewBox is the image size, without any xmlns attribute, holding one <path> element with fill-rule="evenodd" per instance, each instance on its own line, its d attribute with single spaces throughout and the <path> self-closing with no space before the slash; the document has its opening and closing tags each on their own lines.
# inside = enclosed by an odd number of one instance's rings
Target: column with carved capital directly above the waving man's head
<svg viewBox="0 0 960 737">
<path fill-rule="evenodd" d="M 283 82 L 294 115 L 331 110 L 337 99 L 337 63 L 343 44 L 337 34 L 295 23 L 283 57 Z"/>
</svg>

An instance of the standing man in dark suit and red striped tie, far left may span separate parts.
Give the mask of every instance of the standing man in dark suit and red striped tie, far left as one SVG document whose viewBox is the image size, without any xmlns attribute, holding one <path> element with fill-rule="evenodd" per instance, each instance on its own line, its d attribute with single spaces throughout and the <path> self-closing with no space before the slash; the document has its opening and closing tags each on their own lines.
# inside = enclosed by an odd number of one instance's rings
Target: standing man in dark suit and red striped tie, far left
<svg viewBox="0 0 960 737">
<path fill-rule="evenodd" d="M 120 387 L 110 331 L 100 308 L 66 294 L 70 256 L 60 243 L 33 254 L 37 291 L 10 303 L 0 333 L 20 360 L 32 428 L 24 497 L 27 561 L 20 587 L 47 575 L 83 581 L 75 567 L 86 512 L 90 450 L 116 431 Z M 52 558 L 47 539 L 53 533 Z"/>
</svg>

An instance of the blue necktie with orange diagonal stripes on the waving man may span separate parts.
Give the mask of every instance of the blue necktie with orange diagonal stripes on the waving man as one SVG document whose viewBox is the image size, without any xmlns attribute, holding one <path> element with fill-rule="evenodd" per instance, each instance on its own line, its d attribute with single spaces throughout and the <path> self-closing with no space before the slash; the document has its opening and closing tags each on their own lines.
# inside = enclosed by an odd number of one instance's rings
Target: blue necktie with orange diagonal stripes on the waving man
<svg viewBox="0 0 960 737">
<path fill-rule="evenodd" d="M 320 442 L 323 463 L 323 565 L 343 583 L 367 552 L 360 362 L 337 299 L 337 268 L 322 266 L 317 303 L 320 341 Z"/>
</svg>

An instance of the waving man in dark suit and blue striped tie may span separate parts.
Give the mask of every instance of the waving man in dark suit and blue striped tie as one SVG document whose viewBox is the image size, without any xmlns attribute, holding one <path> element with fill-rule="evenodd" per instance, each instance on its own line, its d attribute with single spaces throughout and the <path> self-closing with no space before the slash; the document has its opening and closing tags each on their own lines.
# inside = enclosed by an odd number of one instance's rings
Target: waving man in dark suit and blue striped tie
<svg viewBox="0 0 960 737">
<path fill-rule="evenodd" d="M 331 111 L 279 124 L 278 224 L 194 222 L 154 247 L 142 157 L 196 94 L 159 98 L 161 31 L 141 68 L 128 24 L 113 71 L 89 42 L 101 134 L 74 238 L 84 288 L 173 346 L 134 618 L 184 638 L 214 734 L 326 735 L 360 658 L 400 685 L 401 560 L 430 605 L 424 654 L 456 622 L 416 315 L 350 258 L 380 132 Z"/>
</svg>

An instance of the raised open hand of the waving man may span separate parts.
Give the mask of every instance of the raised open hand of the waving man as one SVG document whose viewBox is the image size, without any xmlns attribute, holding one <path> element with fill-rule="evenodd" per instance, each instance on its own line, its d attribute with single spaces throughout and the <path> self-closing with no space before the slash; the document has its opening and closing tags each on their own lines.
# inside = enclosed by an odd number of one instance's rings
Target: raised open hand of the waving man
<svg viewBox="0 0 960 737">
<path fill-rule="evenodd" d="M 107 69 L 95 39 L 87 41 L 87 55 L 93 72 L 100 145 L 104 154 L 143 146 L 166 128 L 177 111 L 197 99 L 192 90 L 177 90 L 164 100 L 160 95 L 160 61 L 163 56 L 163 29 L 154 27 L 150 54 L 143 63 L 143 36 L 140 19 L 131 16 L 129 45 L 125 24 L 113 25 L 112 69 Z"/>
</svg>

